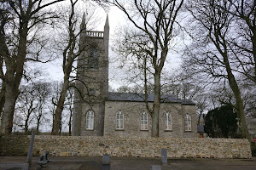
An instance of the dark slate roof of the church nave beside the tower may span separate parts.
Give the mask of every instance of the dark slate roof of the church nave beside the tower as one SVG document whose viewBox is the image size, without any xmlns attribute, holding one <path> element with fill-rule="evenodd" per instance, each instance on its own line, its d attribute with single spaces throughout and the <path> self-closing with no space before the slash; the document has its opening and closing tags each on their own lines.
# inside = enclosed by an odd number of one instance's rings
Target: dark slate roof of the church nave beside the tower
<svg viewBox="0 0 256 170">
<path fill-rule="evenodd" d="M 108 101 L 137 101 L 143 102 L 145 101 L 145 94 L 134 94 L 134 93 L 115 93 L 108 92 Z M 154 94 L 148 94 L 148 102 L 154 101 Z M 173 95 L 162 95 L 161 96 L 162 103 L 182 103 L 183 105 L 195 105 L 189 99 L 177 99 Z"/>
</svg>

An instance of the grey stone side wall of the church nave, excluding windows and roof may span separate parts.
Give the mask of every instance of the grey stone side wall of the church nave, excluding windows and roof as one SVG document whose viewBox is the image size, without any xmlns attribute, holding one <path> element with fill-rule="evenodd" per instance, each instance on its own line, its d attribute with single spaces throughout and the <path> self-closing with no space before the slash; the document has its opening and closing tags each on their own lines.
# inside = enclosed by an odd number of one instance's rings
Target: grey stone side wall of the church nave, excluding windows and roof
<svg viewBox="0 0 256 170">
<path fill-rule="evenodd" d="M 150 105 L 152 107 L 152 105 Z M 116 114 L 121 111 L 124 114 L 124 129 L 116 129 Z M 144 102 L 106 101 L 104 118 L 104 136 L 120 137 L 150 137 L 151 117 L 148 115 L 148 130 L 141 130 L 141 114 L 146 111 Z M 172 129 L 165 128 L 165 114 L 172 116 Z M 191 116 L 192 129 L 184 130 L 184 116 Z M 181 105 L 180 103 L 164 103 L 160 107 L 160 137 L 172 138 L 196 138 L 198 137 L 196 126 L 195 105 Z"/>
</svg>

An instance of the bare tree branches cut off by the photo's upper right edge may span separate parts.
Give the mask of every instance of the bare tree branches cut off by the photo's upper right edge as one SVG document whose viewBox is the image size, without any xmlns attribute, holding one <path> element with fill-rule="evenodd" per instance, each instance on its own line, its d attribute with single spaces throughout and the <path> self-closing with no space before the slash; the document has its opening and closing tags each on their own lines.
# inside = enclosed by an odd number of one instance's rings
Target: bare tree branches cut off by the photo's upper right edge
<svg viewBox="0 0 256 170">
<path fill-rule="evenodd" d="M 230 43 L 236 46 L 234 51 L 241 74 L 256 83 L 256 3 L 245 0 L 229 0 L 232 8 L 224 8 L 236 20 L 236 31 Z"/>
</svg>

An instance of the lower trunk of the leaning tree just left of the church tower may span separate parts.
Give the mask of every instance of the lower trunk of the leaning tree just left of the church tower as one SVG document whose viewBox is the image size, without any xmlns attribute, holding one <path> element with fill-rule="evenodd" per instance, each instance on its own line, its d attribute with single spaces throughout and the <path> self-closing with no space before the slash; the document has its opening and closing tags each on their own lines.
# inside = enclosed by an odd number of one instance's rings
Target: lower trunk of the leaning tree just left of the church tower
<svg viewBox="0 0 256 170">
<path fill-rule="evenodd" d="M 58 135 L 61 133 L 61 113 L 64 108 L 64 102 L 66 99 L 66 94 L 67 94 L 67 89 L 69 87 L 69 74 L 65 74 L 64 76 L 64 82 L 63 82 L 63 87 L 61 89 L 61 95 L 58 100 L 57 108 L 55 111 L 55 118 L 54 118 L 54 123 L 53 123 L 53 129 L 52 129 L 52 135 Z"/>
</svg>

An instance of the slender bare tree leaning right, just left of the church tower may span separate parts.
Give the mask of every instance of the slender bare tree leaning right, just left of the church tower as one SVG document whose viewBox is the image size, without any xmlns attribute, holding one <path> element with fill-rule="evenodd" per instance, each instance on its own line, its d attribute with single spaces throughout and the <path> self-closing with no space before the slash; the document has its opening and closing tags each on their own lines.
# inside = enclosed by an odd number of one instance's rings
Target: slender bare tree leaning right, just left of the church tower
<svg viewBox="0 0 256 170">
<path fill-rule="evenodd" d="M 96 3 L 103 4 L 102 1 L 95 0 Z M 81 32 L 86 31 L 85 22 L 91 19 L 93 14 L 86 14 L 87 18 L 85 20 L 85 15 L 82 19 L 82 24 L 79 23 L 79 15 L 76 14 L 76 9 L 79 6 L 79 0 L 69 0 L 70 3 L 70 14 L 68 15 L 67 20 L 67 40 L 65 41 L 65 47 L 62 52 L 62 70 L 64 73 L 63 84 L 61 89 L 60 97 L 56 103 L 56 111 L 54 124 L 52 128 L 53 135 L 60 134 L 61 127 L 61 113 L 64 108 L 65 99 L 67 96 L 67 90 L 70 87 L 70 82 L 74 80 L 75 77 L 72 77 L 72 72 L 76 70 L 74 67 L 74 62 L 78 59 L 81 52 L 84 50 L 79 45 L 79 36 Z M 104 3 L 105 4 L 105 3 Z M 79 25 L 81 24 L 81 28 Z"/>
</svg>

